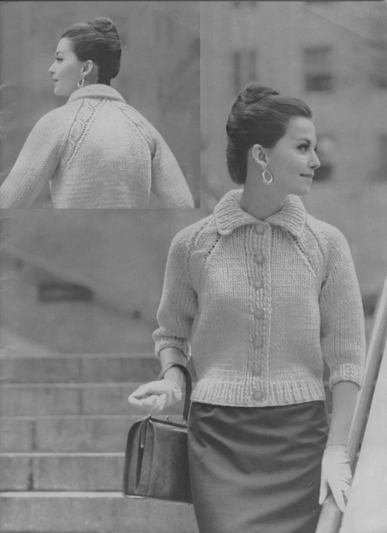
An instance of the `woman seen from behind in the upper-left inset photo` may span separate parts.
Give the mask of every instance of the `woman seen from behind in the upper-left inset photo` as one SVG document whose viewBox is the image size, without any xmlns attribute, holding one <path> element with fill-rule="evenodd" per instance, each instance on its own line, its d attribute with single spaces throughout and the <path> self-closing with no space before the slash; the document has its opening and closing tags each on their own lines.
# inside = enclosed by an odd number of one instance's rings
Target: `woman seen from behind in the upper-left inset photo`
<svg viewBox="0 0 387 533">
<path fill-rule="evenodd" d="M 29 134 L 0 208 L 28 207 L 48 182 L 55 208 L 147 208 L 151 190 L 165 208 L 194 207 L 163 137 L 110 87 L 120 60 L 109 18 L 65 30 L 49 72 L 54 94 L 69 99 Z"/>
</svg>

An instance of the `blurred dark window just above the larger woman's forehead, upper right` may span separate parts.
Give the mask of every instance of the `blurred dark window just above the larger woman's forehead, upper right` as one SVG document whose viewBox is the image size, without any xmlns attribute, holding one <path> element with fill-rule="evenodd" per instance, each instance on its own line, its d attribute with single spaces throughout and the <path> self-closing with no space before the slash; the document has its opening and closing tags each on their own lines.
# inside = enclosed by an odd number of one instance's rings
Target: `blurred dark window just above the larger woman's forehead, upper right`
<svg viewBox="0 0 387 533">
<path fill-rule="evenodd" d="M 333 89 L 332 47 L 310 46 L 304 49 L 305 90 Z"/>
</svg>

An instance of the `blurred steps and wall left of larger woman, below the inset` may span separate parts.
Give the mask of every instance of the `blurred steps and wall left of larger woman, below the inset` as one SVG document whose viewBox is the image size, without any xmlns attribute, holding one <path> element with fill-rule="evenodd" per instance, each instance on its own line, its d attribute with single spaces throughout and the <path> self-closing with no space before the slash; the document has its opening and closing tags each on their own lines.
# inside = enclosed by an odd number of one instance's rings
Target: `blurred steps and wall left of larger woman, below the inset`
<svg viewBox="0 0 387 533">
<path fill-rule="evenodd" d="M 192 506 L 121 485 L 170 241 L 204 215 L 0 212 L 0 532 L 197 533 Z"/>
</svg>

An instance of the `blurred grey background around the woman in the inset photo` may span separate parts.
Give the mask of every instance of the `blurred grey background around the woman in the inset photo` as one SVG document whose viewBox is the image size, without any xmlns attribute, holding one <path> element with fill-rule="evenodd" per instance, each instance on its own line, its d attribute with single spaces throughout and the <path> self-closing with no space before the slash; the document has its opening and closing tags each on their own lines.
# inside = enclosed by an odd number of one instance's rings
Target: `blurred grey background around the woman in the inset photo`
<svg viewBox="0 0 387 533">
<path fill-rule="evenodd" d="M 197 1 L 18 1 L 0 6 L 0 176 L 40 117 L 66 102 L 48 68 L 70 24 L 107 16 L 122 45 L 111 85 L 164 136 L 200 203 L 200 9 Z M 48 189 L 36 207 L 45 206 Z M 155 197 L 152 206 L 158 207 Z"/>
</svg>

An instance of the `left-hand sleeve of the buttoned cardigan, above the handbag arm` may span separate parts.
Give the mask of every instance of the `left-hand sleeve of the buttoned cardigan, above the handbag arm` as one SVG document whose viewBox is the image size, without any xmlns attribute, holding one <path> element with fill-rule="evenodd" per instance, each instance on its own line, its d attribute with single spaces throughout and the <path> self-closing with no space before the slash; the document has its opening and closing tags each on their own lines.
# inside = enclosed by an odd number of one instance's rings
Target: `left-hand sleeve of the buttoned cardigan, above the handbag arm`
<svg viewBox="0 0 387 533">
<path fill-rule="evenodd" d="M 187 239 L 180 232 L 173 239 L 165 268 L 163 294 L 158 308 L 159 328 L 153 333 L 158 357 L 160 350 L 178 348 L 190 358 L 190 336 L 197 312 L 197 294 L 188 271 Z"/>
</svg>

